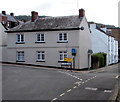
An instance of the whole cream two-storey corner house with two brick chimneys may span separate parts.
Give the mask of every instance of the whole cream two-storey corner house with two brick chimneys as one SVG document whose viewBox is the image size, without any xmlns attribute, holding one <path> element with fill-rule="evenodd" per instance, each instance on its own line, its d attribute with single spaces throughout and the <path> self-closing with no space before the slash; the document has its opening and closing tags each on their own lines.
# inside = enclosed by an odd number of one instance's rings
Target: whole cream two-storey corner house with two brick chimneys
<svg viewBox="0 0 120 102">
<path fill-rule="evenodd" d="M 8 61 L 48 66 L 61 66 L 72 58 L 73 67 L 90 67 L 90 29 L 84 9 L 79 15 L 38 18 L 32 12 L 31 21 L 8 33 Z M 75 56 L 74 56 L 75 55 Z"/>
</svg>

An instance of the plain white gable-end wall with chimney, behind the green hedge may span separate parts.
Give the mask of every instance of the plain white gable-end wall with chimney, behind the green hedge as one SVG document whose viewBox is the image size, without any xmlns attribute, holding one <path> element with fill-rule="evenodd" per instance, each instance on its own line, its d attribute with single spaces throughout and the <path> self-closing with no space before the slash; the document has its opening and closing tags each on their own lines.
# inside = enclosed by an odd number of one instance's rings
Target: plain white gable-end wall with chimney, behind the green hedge
<svg viewBox="0 0 120 102">
<path fill-rule="evenodd" d="M 96 29 L 96 24 L 90 24 L 91 29 L 91 42 L 93 53 L 104 52 L 107 54 L 108 65 L 108 36 Z"/>
</svg>

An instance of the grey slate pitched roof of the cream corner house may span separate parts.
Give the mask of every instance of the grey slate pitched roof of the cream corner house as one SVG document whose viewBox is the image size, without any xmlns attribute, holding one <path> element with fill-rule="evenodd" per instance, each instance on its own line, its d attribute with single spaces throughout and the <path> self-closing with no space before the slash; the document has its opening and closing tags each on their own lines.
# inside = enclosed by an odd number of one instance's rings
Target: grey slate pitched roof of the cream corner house
<svg viewBox="0 0 120 102">
<path fill-rule="evenodd" d="M 55 29 L 73 29 L 79 28 L 82 17 L 79 16 L 62 16 L 38 18 L 35 22 L 28 21 L 10 31 L 31 31 L 31 30 L 55 30 Z"/>
</svg>

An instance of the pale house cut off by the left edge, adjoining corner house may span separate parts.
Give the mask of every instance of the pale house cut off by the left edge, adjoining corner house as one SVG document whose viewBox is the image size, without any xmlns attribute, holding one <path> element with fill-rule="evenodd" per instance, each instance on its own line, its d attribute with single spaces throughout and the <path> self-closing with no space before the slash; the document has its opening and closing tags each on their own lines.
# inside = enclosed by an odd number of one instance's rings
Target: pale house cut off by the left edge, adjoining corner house
<svg viewBox="0 0 120 102">
<path fill-rule="evenodd" d="M 7 33 L 5 33 L 7 29 L 0 22 L 0 62 L 7 61 Z"/>
</svg>

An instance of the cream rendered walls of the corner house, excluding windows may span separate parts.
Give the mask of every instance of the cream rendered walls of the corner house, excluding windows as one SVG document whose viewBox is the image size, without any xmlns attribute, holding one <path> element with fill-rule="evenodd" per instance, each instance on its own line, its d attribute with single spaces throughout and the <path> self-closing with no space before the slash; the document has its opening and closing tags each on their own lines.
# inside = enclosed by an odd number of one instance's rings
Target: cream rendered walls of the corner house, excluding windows
<svg viewBox="0 0 120 102">
<path fill-rule="evenodd" d="M 75 57 L 76 69 L 88 68 L 90 67 L 91 61 L 90 58 L 88 59 L 88 50 L 91 49 L 91 40 L 90 30 L 85 17 L 83 17 L 79 27 L 84 27 L 84 30 L 8 33 L 8 61 L 16 62 L 16 51 L 24 51 L 25 62 L 22 63 L 60 67 L 61 62 L 58 60 L 59 51 L 67 51 L 68 58 L 73 58 L 71 49 L 75 48 L 77 49 L 77 55 Z M 45 43 L 35 43 L 36 33 L 45 34 Z M 68 43 L 57 43 L 59 33 L 68 34 Z M 16 34 L 25 35 L 25 44 L 16 44 Z M 45 62 L 36 62 L 37 51 L 45 51 Z"/>
</svg>

